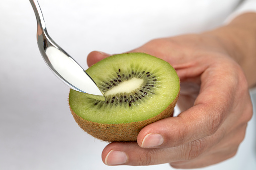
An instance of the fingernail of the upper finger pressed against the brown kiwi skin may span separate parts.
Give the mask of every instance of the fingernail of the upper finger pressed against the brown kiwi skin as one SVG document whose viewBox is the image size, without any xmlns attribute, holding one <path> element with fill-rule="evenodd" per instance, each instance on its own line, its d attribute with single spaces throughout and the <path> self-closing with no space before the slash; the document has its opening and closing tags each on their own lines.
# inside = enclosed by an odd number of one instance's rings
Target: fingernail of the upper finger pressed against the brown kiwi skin
<svg viewBox="0 0 256 170">
<path fill-rule="evenodd" d="M 156 147 L 163 143 L 163 137 L 157 133 L 147 134 L 141 144 L 141 147 Z"/>
</svg>

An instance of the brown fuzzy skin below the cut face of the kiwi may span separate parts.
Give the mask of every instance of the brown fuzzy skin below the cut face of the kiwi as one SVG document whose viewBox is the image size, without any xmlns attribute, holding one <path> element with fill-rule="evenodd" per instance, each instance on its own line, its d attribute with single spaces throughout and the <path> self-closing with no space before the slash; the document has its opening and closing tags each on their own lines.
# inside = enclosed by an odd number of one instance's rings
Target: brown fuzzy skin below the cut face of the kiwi
<svg viewBox="0 0 256 170">
<path fill-rule="evenodd" d="M 120 123 L 120 124 L 105 124 L 105 123 L 97 123 L 85 120 L 74 113 L 71 109 L 70 111 L 76 121 L 76 123 L 88 134 L 94 136 L 103 141 L 108 142 L 126 142 L 126 141 L 136 141 L 139 131 L 145 127 L 146 125 L 153 123 L 157 120 L 171 117 L 174 113 L 174 107 L 179 98 L 178 93 L 175 100 L 169 104 L 167 108 L 165 108 L 158 115 L 151 117 L 147 120 L 131 122 L 131 123 Z"/>
</svg>

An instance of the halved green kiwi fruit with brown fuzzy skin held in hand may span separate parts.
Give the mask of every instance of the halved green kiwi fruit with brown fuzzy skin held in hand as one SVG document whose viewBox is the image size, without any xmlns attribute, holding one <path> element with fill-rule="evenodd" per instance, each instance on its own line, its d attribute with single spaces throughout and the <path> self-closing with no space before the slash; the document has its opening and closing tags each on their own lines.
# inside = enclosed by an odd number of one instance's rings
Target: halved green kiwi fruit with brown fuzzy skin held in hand
<svg viewBox="0 0 256 170">
<path fill-rule="evenodd" d="M 69 107 L 78 125 L 104 141 L 136 141 L 146 125 L 173 115 L 180 93 L 175 69 L 145 53 L 118 54 L 86 71 L 106 100 L 70 90 Z"/>
</svg>

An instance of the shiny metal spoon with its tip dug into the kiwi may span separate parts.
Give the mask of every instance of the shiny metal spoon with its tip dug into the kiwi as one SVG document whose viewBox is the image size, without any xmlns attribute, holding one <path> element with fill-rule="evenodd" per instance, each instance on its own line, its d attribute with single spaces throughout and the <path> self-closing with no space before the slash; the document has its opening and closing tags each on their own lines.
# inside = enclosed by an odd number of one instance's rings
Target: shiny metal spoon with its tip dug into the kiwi
<svg viewBox="0 0 256 170">
<path fill-rule="evenodd" d="M 37 44 L 40 53 L 52 72 L 71 89 L 93 94 L 91 98 L 105 100 L 94 80 L 48 35 L 43 14 L 37 0 L 29 0 L 37 20 Z M 97 95 L 97 96 L 94 96 Z"/>
</svg>

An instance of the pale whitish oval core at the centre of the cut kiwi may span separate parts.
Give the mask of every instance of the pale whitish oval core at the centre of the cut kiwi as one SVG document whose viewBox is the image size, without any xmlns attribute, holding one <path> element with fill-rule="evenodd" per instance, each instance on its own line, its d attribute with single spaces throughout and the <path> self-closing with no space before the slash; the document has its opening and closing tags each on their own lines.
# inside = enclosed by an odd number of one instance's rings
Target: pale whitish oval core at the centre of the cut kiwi
<svg viewBox="0 0 256 170">
<path fill-rule="evenodd" d="M 140 88 L 142 83 L 143 83 L 143 79 L 133 77 L 132 79 L 123 81 L 118 86 L 115 86 L 112 89 L 108 90 L 104 95 L 109 96 L 109 95 L 118 94 L 118 93 L 130 93 Z"/>
</svg>

